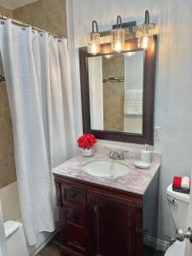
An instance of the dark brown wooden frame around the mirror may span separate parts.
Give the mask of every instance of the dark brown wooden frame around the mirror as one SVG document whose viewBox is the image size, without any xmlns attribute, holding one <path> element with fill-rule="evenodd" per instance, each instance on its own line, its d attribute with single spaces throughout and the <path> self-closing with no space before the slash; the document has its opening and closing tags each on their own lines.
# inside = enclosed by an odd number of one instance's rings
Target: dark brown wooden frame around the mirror
<svg viewBox="0 0 192 256">
<path fill-rule="evenodd" d="M 154 84 L 155 84 L 155 62 L 157 36 L 154 35 L 154 43 L 145 50 L 143 64 L 143 134 L 128 133 L 122 131 L 102 131 L 92 130 L 90 126 L 90 89 L 88 57 L 94 57 L 87 53 L 87 48 L 79 48 L 80 82 L 81 82 L 81 102 L 83 132 L 91 133 L 97 139 L 125 142 L 125 143 L 148 143 L 154 145 Z M 137 47 L 137 38 L 125 40 L 125 51 L 141 50 Z M 102 44 L 101 54 L 111 54 L 111 45 Z"/>
</svg>

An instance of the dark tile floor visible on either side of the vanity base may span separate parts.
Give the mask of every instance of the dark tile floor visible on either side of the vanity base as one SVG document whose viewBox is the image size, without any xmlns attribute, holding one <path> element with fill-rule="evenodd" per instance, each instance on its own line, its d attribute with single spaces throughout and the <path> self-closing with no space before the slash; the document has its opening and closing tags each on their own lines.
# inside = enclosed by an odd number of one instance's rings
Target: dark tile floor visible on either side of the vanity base
<svg viewBox="0 0 192 256">
<path fill-rule="evenodd" d="M 38 253 L 37 256 L 62 256 L 63 254 L 60 253 L 58 247 L 50 242 L 44 249 Z M 144 252 L 144 256 L 163 256 L 163 252 L 157 252 L 154 253 L 154 250 L 151 249 L 150 247 L 146 247 L 146 250 Z M 64 256 L 64 255 L 63 255 Z"/>
</svg>

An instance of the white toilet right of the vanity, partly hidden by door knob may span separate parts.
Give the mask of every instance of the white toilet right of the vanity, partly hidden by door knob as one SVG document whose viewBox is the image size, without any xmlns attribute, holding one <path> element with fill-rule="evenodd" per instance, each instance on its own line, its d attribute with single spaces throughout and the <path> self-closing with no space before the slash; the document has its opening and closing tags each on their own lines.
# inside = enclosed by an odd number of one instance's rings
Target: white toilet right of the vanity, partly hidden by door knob
<svg viewBox="0 0 192 256">
<path fill-rule="evenodd" d="M 166 189 L 172 219 L 177 229 L 188 229 L 189 194 L 172 190 L 172 184 Z M 185 241 L 175 241 L 166 251 L 165 256 L 184 256 Z"/>
</svg>

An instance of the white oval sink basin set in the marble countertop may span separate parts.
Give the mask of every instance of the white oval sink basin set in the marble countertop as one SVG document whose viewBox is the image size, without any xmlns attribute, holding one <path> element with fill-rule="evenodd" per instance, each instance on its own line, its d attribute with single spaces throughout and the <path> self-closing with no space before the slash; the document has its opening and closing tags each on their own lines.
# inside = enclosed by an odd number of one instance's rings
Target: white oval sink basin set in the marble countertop
<svg viewBox="0 0 192 256">
<path fill-rule="evenodd" d="M 127 174 L 130 169 L 113 160 L 98 160 L 85 164 L 83 171 L 97 177 L 120 177 Z"/>
</svg>

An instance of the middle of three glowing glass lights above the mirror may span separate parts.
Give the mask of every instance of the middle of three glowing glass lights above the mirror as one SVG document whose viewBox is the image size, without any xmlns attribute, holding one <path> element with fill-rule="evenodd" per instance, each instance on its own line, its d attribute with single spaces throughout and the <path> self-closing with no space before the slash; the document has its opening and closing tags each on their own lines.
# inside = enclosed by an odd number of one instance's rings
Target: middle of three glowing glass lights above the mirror
<svg viewBox="0 0 192 256">
<path fill-rule="evenodd" d="M 125 30 L 122 28 L 122 20 L 120 15 L 117 16 L 117 28 L 111 31 L 111 35 L 111 49 L 112 51 L 120 53 L 122 50 L 124 50 L 125 44 Z"/>
</svg>

